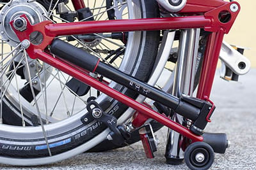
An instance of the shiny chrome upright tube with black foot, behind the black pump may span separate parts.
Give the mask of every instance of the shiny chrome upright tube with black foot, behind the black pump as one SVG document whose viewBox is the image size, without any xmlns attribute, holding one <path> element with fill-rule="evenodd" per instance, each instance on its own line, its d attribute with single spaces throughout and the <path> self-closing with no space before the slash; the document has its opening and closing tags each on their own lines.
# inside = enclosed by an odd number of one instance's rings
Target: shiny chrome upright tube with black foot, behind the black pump
<svg viewBox="0 0 256 170">
<path fill-rule="evenodd" d="M 193 96 L 195 80 L 196 57 L 200 29 L 188 29 L 181 31 L 179 43 L 179 58 L 175 67 L 175 78 L 173 83 L 173 96 L 180 97 L 182 94 Z M 174 113 L 172 120 L 186 125 L 186 118 Z M 170 130 L 166 146 L 166 161 L 168 164 L 180 164 L 184 159 L 184 152 L 180 149 L 182 136 Z"/>
</svg>

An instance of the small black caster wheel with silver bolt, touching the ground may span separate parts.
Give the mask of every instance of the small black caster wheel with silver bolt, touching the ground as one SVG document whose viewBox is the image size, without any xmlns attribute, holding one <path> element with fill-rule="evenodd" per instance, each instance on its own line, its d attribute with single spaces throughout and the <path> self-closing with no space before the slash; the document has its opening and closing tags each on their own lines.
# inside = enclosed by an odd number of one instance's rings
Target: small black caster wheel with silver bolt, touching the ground
<svg viewBox="0 0 256 170">
<path fill-rule="evenodd" d="M 214 161 L 214 151 L 204 142 L 195 142 L 185 150 L 185 162 L 190 169 L 209 169 Z"/>
</svg>

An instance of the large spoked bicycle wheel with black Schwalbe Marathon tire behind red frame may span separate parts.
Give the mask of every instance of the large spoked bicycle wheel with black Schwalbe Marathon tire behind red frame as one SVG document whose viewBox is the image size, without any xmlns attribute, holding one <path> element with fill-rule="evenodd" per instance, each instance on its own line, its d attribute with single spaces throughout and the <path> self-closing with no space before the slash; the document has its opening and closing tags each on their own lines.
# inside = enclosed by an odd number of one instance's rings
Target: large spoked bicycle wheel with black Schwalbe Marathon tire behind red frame
<svg viewBox="0 0 256 170">
<path fill-rule="evenodd" d="M 105 4 L 106 2 L 108 4 Z M 104 131 L 105 127 L 95 121 L 83 125 L 80 120 L 86 114 L 86 100 L 89 97 L 97 97 L 95 100 L 102 104 L 107 113 L 119 118 L 118 121 L 124 122 L 127 118 L 127 116 L 121 117 L 127 110 L 124 104 L 99 94 L 97 90 L 84 84 L 81 84 L 81 87 L 88 88 L 87 92 L 82 94 L 79 90 L 75 92 L 72 86 L 67 85 L 72 80 L 70 76 L 39 60 L 29 59 L 26 52 L 20 50 L 19 41 L 9 25 L 10 20 L 25 13 L 33 24 L 42 20 L 67 22 L 60 17 L 63 15 L 56 15 L 56 11 L 65 14 L 65 10 L 61 8 L 63 6 L 66 6 L 64 9 L 68 10 L 67 13 L 72 13 L 67 3 L 68 1 L 0 1 L 2 4 L 0 6 L 0 118 L 3 121 L 3 124 L 0 124 L 1 163 L 24 166 L 48 164 L 67 159 L 100 143 L 108 134 L 108 131 Z M 89 17 L 82 20 L 88 18 L 105 20 L 109 19 L 111 14 L 118 19 L 125 16 L 127 18 L 158 17 L 158 8 L 154 0 L 84 1 L 84 3 L 90 7 L 90 10 Z M 56 10 L 57 6 L 58 10 Z M 119 40 L 120 36 L 109 39 L 109 34 L 65 38 L 73 45 L 97 55 L 102 61 L 118 67 L 121 71 L 147 81 L 156 58 L 159 32 L 121 33 L 121 40 Z M 31 41 L 33 43 L 40 41 L 40 34 L 33 34 Z M 131 90 L 109 82 L 99 75 L 95 78 L 99 78 L 129 97 L 138 96 Z"/>
</svg>

